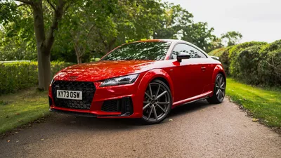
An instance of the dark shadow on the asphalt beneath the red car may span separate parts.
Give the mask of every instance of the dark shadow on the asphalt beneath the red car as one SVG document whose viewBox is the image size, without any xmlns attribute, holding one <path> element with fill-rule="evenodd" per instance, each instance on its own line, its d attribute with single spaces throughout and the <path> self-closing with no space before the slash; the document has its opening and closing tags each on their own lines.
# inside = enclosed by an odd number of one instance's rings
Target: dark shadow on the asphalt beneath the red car
<svg viewBox="0 0 281 158">
<path fill-rule="evenodd" d="M 174 117 L 196 112 L 202 110 L 204 107 L 209 106 L 205 100 L 187 105 L 181 105 L 171 110 L 171 113 L 166 119 L 173 119 Z M 79 129 L 87 131 L 123 131 L 129 129 L 149 128 L 149 125 L 143 125 L 138 119 L 96 119 L 92 117 L 78 117 L 67 114 L 54 114 L 53 122 L 55 126 L 66 127 L 70 129 Z M 169 120 L 164 120 L 160 124 L 152 125 L 159 126 L 161 124 L 169 123 Z"/>
</svg>

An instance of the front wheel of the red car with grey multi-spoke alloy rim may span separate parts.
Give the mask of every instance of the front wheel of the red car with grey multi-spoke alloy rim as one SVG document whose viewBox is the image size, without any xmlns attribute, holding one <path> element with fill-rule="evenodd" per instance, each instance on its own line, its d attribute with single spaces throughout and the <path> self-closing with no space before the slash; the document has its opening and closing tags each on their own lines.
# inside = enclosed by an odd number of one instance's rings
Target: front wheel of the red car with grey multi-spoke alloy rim
<svg viewBox="0 0 281 158">
<path fill-rule="evenodd" d="M 148 84 L 143 98 L 143 117 L 145 124 L 158 124 L 171 111 L 171 91 L 163 81 L 155 80 Z"/>
</svg>

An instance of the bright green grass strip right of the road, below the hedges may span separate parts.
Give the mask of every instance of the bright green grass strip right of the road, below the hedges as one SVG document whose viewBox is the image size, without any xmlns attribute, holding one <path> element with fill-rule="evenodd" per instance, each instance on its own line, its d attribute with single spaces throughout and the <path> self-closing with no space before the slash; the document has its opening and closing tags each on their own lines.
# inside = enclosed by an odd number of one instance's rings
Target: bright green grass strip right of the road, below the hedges
<svg viewBox="0 0 281 158">
<path fill-rule="evenodd" d="M 253 114 L 256 119 L 263 120 L 268 126 L 281 127 L 281 90 L 273 88 L 256 88 L 241 84 L 228 78 L 226 94 L 235 103 Z"/>
</svg>

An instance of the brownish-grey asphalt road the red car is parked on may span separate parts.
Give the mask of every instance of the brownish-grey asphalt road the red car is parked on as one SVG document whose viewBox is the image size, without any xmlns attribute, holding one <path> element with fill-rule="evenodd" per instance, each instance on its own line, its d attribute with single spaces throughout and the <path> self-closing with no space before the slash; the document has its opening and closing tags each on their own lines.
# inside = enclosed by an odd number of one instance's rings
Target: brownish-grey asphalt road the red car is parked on
<svg viewBox="0 0 281 158">
<path fill-rule="evenodd" d="M 228 100 L 178 107 L 162 124 L 135 122 L 53 114 L 0 140 L 0 157 L 281 157 L 281 137 Z"/>
</svg>

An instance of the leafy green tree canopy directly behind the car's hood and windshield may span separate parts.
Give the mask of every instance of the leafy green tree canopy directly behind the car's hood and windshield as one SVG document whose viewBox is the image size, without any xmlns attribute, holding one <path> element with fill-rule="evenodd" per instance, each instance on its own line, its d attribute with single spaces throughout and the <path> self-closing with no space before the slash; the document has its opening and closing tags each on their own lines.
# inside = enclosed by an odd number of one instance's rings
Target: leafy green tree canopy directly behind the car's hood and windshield
<svg viewBox="0 0 281 158">
<path fill-rule="evenodd" d="M 159 28 L 159 1 L 83 1 L 61 22 L 60 44 L 71 44 L 81 63 L 84 55 L 105 54 L 126 41 L 149 39 Z"/>
</svg>

